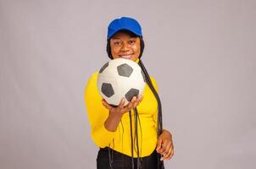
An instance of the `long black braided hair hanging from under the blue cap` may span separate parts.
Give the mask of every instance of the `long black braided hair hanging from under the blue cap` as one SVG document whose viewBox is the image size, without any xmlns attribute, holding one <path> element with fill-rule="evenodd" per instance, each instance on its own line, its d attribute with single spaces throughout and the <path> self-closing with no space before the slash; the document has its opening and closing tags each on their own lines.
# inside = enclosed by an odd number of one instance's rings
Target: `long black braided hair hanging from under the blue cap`
<svg viewBox="0 0 256 169">
<path fill-rule="evenodd" d="M 129 30 L 120 30 L 122 32 L 126 32 L 128 34 L 130 34 L 132 37 L 137 37 L 138 35 L 135 35 L 134 33 L 132 33 Z M 157 102 L 158 102 L 158 122 L 157 122 L 157 134 L 158 134 L 158 138 L 159 135 L 162 134 L 162 130 L 163 130 L 163 121 L 162 121 L 162 104 L 159 98 L 159 94 L 157 93 L 157 91 L 155 90 L 155 88 L 153 87 L 153 83 L 150 79 L 149 74 L 147 73 L 147 69 L 145 68 L 144 64 L 142 63 L 142 53 L 144 51 L 144 41 L 143 41 L 143 37 L 142 36 L 138 36 L 140 39 L 140 45 L 141 45 L 141 52 L 139 55 L 139 62 L 138 65 L 142 68 L 142 72 L 145 74 L 145 79 L 146 79 L 146 83 L 149 86 L 150 90 L 153 92 L 153 95 L 155 96 Z M 110 47 L 110 39 L 107 41 L 107 53 L 110 59 L 114 59 L 114 57 L 112 56 L 111 53 L 111 47 Z M 134 169 L 134 161 L 133 161 L 133 148 L 136 148 L 136 154 L 137 154 L 137 169 L 142 168 L 142 164 L 141 164 L 141 158 L 140 158 L 140 151 L 139 151 L 139 145 L 138 145 L 138 132 L 137 132 L 137 123 L 139 123 L 140 127 L 141 127 L 141 123 L 140 123 L 140 117 L 138 114 L 138 111 L 136 109 L 136 107 L 134 108 L 134 112 L 135 112 L 135 136 L 133 137 L 132 135 L 132 125 L 131 125 L 131 111 L 129 111 L 129 117 L 130 117 L 130 128 L 131 128 L 131 161 L 132 161 L 132 169 Z M 142 129 L 142 128 L 141 128 Z M 135 146 L 136 145 L 136 146 Z M 110 155 L 110 154 L 109 154 Z M 164 161 L 160 161 L 161 155 L 158 153 L 158 169 L 164 169 Z M 110 159 L 110 158 L 109 158 Z M 109 161 L 109 165 L 112 163 L 112 161 Z M 110 165 L 110 168 L 111 165 Z"/>
</svg>

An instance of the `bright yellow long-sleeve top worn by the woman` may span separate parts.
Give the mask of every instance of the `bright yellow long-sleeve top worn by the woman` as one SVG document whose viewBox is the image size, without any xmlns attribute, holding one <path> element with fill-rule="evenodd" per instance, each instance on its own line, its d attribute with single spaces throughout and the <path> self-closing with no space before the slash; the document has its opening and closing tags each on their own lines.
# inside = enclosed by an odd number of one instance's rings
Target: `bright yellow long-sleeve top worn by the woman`
<svg viewBox="0 0 256 169">
<path fill-rule="evenodd" d="M 129 112 L 121 118 L 118 128 L 110 132 L 104 127 L 106 119 L 109 117 L 109 110 L 103 106 L 102 96 L 97 90 L 98 72 L 92 74 L 88 80 L 85 91 L 86 109 L 92 128 L 92 139 L 94 143 L 101 148 L 109 146 L 111 149 L 119 151 L 125 155 L 131 156 L 131 126 Z M 154 88 L 158 90 L 155 79 L 150 76 Z M 141 125 L 138 123 L 138 142 L 141 157 L 150 155 L 157 144 L 157 101 L 148 85 L 143 91 L 141 103 L 136 106 L 140 117 Z M 134 112 L 131 112 L 133 139 L 134 139 Z M 141 128 L 140 128 L 141 126 Z M 136 155 L 136 147 L 133 150 Z"/>
</svg>

